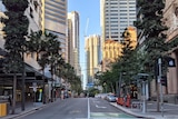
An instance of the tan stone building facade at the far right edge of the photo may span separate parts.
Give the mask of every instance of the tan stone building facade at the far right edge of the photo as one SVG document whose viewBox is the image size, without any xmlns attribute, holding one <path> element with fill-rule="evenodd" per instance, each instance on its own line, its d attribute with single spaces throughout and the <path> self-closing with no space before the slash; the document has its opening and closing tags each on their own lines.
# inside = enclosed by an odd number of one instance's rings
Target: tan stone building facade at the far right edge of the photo
<svg viewBox="0 0 178 119">
<path fill-rule="evenodd" d="M 178 40 L 178 1 L 166 0 L 164 10 L 164 20 L 168 26 L 167 41 Z M 167 73 L 167 87 L 165 88 L 165 98 L 169 102 L 178 103 L 178 47 L 170 51 L 170 57 L 176 60 L 176 67 L 169 68 Z M 169 97 L 169 98 L 168 98 Z"/>
</svg>

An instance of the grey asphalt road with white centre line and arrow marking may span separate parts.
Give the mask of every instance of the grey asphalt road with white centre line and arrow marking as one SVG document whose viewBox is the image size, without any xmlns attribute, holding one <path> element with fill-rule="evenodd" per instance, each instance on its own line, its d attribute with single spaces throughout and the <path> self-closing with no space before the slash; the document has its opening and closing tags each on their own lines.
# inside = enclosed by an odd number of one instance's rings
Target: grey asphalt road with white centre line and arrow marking
<svg viewBox="0 0 178 119">
<path fill-rule="evenodd" d="M 98 98 L 69 98 L 17 119 L 119 119 L 135 118 Z"/>
</svg>

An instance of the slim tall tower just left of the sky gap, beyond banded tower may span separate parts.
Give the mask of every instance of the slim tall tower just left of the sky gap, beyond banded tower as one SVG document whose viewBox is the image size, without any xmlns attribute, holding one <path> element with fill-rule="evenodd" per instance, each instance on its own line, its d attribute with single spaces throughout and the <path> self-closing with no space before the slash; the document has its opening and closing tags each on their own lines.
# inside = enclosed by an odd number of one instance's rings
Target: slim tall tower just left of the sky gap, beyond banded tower
<svg viewBox="0 0 178 119">
<path fill-rule="evenodd" d="M 80 47 L 79 47 L 79 13 L 72 11 L 68 13 L 68 61 L 80 76 Z"/>
</svg>

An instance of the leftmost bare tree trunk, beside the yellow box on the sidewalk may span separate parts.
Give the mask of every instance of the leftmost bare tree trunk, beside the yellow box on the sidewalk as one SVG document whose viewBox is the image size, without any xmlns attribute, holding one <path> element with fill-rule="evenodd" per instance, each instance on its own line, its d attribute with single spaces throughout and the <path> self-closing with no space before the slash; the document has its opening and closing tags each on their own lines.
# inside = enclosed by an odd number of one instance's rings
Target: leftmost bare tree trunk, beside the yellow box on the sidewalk
<svg viewBox="0 0 178 119">
<path fill-rule="evenodd" d="M 14 110 L 16 110 L 16 89 L 17 89 L 17 73 L 13 73 L 12 115 L 14 115 Z"/>
</svg>

